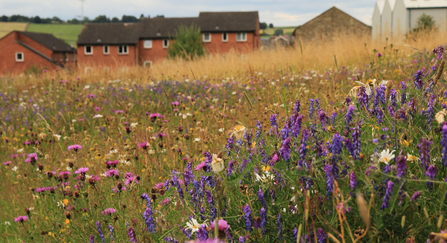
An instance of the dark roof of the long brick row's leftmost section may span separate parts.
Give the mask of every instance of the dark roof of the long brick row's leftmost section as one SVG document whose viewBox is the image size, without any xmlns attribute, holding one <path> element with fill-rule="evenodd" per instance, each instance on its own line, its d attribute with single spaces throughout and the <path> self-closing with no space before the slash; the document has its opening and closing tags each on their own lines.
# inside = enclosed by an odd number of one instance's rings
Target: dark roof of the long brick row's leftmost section
<svg viewBox="0 0 447 243">
<path fill-rule="evenodd" d="M 139 25 L 137 23 L 94 23 L 86 24 L 77 44 L 136 44 Z"/>
</svg>

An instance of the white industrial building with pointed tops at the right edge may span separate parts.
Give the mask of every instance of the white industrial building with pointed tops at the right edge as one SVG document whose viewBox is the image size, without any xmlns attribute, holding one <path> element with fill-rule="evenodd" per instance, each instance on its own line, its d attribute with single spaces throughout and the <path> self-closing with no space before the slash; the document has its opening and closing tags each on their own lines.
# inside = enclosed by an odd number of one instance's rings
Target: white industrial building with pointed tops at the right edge
<svg viewBox="0 0 447 243">
<path fill-rule="evenodd" d="M 430 15 L 439 30 L 447 31 L 447 0 L 378 0 L 372 16 L 374 38 L 396 37 L 417 26 L 418 18 Z"/>
</svg>

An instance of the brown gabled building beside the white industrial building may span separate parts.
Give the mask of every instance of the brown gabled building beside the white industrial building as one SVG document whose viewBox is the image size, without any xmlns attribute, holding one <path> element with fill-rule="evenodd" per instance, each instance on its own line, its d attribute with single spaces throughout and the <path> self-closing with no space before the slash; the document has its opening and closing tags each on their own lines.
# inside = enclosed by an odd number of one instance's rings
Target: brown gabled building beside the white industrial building
<svg viewBox="0 0 447 243">
<path fill-rule="evenodd" d="M 310 41 L 315 38 L 334 38 L 338 35 L 371 36 L 371 26 L 332 7 L 293 31 L 293 40 Z"/>
</svg>

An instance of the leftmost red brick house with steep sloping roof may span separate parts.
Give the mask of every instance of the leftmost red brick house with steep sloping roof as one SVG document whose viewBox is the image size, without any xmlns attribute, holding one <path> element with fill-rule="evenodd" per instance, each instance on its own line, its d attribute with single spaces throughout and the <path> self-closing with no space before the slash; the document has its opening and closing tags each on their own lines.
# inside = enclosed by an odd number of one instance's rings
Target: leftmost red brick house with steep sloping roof
<svg viewBox="0 0 447 243">
<path fill-rule="evenodd" d="M 0 74 L 76 65 L 76 49 L 51 34 L 13 31 L 0 39 Z"/>
</svg>

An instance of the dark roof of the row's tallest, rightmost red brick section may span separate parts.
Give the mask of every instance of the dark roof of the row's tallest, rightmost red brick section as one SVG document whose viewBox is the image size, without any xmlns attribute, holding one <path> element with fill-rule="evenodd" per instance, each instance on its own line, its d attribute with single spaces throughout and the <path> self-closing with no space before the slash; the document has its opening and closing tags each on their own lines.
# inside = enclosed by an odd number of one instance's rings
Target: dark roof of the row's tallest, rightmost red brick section
<svg viewBox="0 0 447 243">
<path fill-rule="evenodd" d="M 258 12 L 200 12 L 199 21 L 202 32 L 256 31 Z"/>
</svg>

